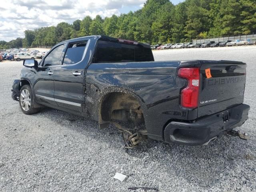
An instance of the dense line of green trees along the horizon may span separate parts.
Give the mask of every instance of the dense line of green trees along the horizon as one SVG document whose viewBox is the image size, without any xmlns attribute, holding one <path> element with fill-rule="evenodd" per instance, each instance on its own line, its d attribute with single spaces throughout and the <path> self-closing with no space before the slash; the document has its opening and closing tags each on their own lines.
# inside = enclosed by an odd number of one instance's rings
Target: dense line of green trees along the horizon
<svg viewBox="0 0 256 192">
<path fill-rule="evenodd" d="M 185 0 L 173 5 L 169 0 L 147 0 L 144 6 L 120 16 L 97 15 L 59 23 L 56 27 L 26 30 L 25 38 L 0 41 L 0 48 L 53 46 L 88 35 L 101 35 L 157 43 L 177 43 L 193 38 L 211 38 L 256 32 L 255 0 Z"/>
</svg>

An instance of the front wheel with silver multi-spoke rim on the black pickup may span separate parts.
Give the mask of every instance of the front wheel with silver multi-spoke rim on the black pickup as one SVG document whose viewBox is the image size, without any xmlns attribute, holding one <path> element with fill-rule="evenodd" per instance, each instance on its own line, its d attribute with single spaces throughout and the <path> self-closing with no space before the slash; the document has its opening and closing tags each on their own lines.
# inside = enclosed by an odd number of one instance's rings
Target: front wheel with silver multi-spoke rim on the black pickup
<svg viewBox="0 0 256 192">
<path fill-rule="evenodd" d="M 26 115 L 35 114 L 40 111 L 40 108 L 35 108 L 35 101 L 29 85 L 24 85 L 20 89 L 19 103 L 20 109 Z"/>
</svg>

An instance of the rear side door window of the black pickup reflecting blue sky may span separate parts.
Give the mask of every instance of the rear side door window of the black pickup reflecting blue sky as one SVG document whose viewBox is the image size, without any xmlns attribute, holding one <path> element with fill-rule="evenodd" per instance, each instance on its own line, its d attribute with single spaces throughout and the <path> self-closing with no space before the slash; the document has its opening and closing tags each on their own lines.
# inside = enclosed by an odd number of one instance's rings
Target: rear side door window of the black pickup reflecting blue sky
<svg viewBox="0 0 256 192">
<path fill-rule="evenodd" d="M 66 51 L 63 65 L 75 64 L 82 60 L 84 49 L 86 47 L 86 42 L 76 42 L 70 43 Z"/>
</svg>

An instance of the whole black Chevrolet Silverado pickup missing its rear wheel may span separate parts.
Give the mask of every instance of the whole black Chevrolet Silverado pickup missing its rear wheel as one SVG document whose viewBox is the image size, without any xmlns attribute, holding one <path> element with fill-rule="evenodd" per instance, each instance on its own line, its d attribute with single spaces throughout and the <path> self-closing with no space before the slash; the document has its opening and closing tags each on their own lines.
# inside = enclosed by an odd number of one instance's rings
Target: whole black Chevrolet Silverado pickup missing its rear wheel
<svg viewBox="0 0 256 192">
<path fill-rule="evenodd" d="M 93 118 L 99 128 L 114 124 L 126 147 L 144 137 L 208 144 L 248 119 L 243 62 L 154 62 L 149 44 L 87 36 L 61 42 L 39 63 L 23 65 L 12 86 L 22 112 L 48 106 Z"/>
</svg>

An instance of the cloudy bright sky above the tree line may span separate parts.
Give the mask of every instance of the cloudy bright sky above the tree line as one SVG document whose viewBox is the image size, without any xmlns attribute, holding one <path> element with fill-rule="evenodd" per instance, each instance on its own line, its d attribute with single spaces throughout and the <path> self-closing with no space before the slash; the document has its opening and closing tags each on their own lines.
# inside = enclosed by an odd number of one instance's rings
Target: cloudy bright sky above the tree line
<svg viewBox="0 0 256 192">
<path fill-rule="evenodd" d="M 171 0 L 178 4 L 184 0 Z M 0 8 L 0 40 L 24 38 L 25 30 L 72 23 L 89 15 L 120 15 L 143 7 L 146 0 L 5 0 Z"/>
</svg>

